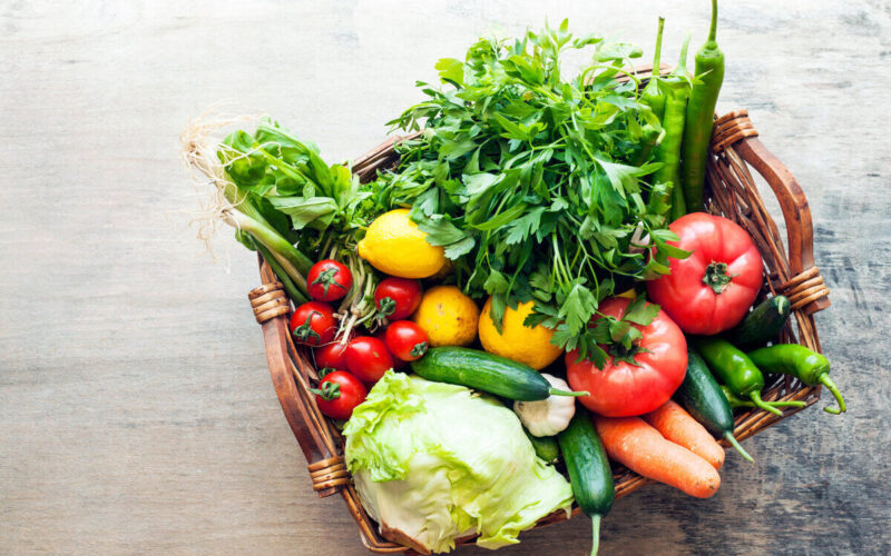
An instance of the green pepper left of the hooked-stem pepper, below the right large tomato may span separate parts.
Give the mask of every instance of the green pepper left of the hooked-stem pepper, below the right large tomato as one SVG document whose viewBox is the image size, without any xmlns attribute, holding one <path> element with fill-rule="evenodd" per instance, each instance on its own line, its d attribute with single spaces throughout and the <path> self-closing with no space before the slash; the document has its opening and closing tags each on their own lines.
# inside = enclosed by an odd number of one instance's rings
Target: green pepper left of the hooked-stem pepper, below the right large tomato
<svg viewBox="0 0 891 556">
<path fill-rule="evenodd" d="M 733 394 L 750 398 L 756 407 L 765 411 L 783 415 L 782 411 L 776 409 L 777 404 L 775 401 L 761 399 L 761 390 L 764 388 L 764 375 L 748 356 L 733 347 L 730 341 L 721 338 L 696 338 L 693 344 L 715 377 L 724 383 Z M 803 401 L 783 403 L 782 405 L 804 407 Z"/>
</svg>

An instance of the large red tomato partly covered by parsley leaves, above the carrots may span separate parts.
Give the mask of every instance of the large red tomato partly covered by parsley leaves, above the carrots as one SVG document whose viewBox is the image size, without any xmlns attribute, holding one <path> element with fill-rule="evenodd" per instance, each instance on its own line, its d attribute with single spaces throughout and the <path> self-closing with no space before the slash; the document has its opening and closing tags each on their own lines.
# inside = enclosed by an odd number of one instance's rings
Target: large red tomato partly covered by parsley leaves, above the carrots
<svg viewBox="0 0 891 556">
<path fill-rule="evenodd" d="M 601 301 L 598 310 L 620 319 L 630 302 L 627 298 L 611 297 Z M 630 354 L 620 354 L 615 346 L 601 346 L 610 355 L 603 369 L 589 359 L 577 360 L 576 350 L 566 354 L 569 386 L 589 391 L 590 396 L 578 398 L 579 401 L 605 417 L 631 417 L 656 409 L 672 397 L 687 371 L 687 341 L 665 311 L 659 310 L 647 326 L 631 326 L 643 337 Z M 623 355 L 634 363 L 621 360 Z"/>
</svg>

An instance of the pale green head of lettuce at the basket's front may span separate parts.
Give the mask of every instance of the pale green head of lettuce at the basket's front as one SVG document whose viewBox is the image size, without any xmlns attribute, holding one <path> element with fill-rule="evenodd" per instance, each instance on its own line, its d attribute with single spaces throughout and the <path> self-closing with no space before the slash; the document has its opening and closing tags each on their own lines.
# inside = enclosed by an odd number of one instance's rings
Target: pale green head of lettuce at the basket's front
<svg viewBox="0 0 891 556">
<path fill-rule="evenodd" d="M 569 483 L 536 457 L 517 416 L 462 386 L 388 371 L 344 429 L 365 510 L 432 552 L 477 533 L 498 548 L 572 504 Z"/>
</svg>

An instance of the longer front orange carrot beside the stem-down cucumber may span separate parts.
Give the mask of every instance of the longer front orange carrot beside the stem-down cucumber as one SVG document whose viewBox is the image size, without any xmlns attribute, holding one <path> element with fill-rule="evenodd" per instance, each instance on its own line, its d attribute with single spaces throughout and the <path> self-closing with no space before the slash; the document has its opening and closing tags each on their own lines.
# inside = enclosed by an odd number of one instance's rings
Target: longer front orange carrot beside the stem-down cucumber
<svg viewBox="0 0 891 556">
<path fill-rule="evenodd" d="M 595 415 L 594 425 L 609 458 L 633 471 L 697 498 L 708 498 L 717 492 L 721 476 L 708 461 L 666 440 L 644 419 Z"/>
</svg>

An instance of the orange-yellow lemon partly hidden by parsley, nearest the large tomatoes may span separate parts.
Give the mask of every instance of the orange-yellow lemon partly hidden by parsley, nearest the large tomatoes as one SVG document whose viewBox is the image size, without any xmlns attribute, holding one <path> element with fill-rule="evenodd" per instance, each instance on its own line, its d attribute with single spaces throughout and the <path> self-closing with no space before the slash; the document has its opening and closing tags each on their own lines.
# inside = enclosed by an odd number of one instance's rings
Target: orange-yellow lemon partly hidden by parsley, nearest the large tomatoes
<svg viewBox="0 0 891 556">
<path fill-rule="evenodd" d="M 533 305 L 532 301 L 528 301 L 519 304 L 516 310 L 510 307 L 505 309 L 501 334 L 498 334 L 490 314 L 492 308 L 490 297 L 480 315 L 482 348 L 490 354 L 525 363 L 533 369 L 541 369 L 554 363 L 564 351 L 550 342 L 554 330 L 540 325 L 533 328 L 522 326 L 522 321 L 532 312 Z"/>
</svg>

